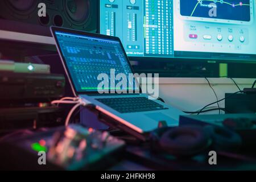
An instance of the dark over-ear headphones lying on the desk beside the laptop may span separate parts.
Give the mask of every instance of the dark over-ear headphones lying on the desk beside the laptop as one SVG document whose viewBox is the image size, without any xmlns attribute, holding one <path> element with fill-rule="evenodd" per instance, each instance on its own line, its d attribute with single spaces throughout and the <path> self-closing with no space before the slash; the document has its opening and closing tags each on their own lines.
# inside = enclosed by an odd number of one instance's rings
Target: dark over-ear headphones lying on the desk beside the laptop
<svg viewBox="0 0 256 182">
<path fill-rule="evenodd" d="M 236 151 L 240 135 L 220 126 L 163 127 L 152 131 L 150 145 L 154 152 L 165 152 L 176 157 L 192 157 L 207 148 L 216 151 Z"/>
</svg>

